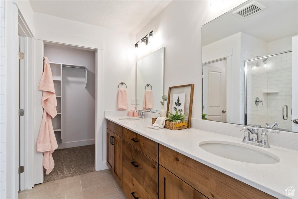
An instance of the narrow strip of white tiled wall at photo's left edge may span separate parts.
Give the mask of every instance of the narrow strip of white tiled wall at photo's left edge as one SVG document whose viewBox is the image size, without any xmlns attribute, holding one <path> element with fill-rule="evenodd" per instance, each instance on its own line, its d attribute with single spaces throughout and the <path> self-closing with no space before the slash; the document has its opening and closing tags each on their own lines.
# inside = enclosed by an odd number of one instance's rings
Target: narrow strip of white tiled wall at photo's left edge
<svg viewBox="0 0 298 199">
<path fill-rule="evenodd" d="M 0 198 L 5 198 L 5 1 L 0 1 Z"/>
</svg>

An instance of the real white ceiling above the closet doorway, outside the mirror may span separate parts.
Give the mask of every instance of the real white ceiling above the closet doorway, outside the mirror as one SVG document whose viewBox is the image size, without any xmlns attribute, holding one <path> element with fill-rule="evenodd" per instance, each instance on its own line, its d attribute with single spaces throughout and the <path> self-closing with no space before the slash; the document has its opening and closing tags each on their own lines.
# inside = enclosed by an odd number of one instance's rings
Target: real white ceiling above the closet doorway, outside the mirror
<svg viewBox="0 0 298 199">
<path fill-rule="evenodd" d="M 171 1 L 30 0 L 30 4 L 34 12 L 136 34 Z"/>
</svg>

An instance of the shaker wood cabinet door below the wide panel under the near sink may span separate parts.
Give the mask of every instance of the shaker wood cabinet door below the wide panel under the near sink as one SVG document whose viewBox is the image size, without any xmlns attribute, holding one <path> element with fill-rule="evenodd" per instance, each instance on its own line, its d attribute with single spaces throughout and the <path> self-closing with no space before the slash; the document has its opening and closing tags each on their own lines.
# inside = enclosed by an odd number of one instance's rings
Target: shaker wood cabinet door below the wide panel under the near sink
<svg viewBox="0 0 298 199">
<path fill-rule="evenodd" d="M 203 194 L 159 165 L 159 199 L 203 199 Z"/>
</svg>

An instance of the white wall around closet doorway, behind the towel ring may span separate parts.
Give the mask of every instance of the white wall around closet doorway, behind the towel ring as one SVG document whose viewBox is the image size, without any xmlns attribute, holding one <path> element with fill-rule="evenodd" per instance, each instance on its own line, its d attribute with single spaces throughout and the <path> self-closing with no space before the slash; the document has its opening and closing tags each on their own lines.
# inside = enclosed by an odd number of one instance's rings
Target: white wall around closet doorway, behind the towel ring
<svg viewBox="0 0 298 199">
<path fill-rule="evenodd" d="M 42 13 L 34 13 L 34 26 L 37 39 L 48 41 L 47 35 L 55 33 L 92 39 L 104 42 L 103 82 L 104 109 L 117 110 L 117 90 L 120 82 L 127 84 L 128 99 L 135 96 L 135 37 L 90 24 L 72 21 Z M 48 34 L 46 34 L 48 33 Z M 56 38 L 57 41 L 59 38 Z M 128 109 L 134 105 L 128 103 Z"/>
</svg>

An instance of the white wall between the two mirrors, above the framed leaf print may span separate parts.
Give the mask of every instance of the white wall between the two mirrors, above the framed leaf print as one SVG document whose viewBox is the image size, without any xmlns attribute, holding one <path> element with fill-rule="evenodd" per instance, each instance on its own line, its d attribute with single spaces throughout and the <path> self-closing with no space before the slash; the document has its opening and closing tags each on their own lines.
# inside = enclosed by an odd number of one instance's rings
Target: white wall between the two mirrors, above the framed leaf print
<svg viewBox="0 0 298 199">
<path fill-rule="evenodd" d="M 148 53 L 165 47 L 165 93 L 170 86 L 195 84 L 193 118 L 201 118 L 201 27 L 243 2 L 224 1 L 221 7 L 214 8 L 209 1 L 172 1 L 136 35 L 139 41 L 154 31 L 157 44 Z"/>
</svg>

